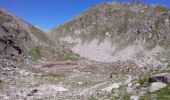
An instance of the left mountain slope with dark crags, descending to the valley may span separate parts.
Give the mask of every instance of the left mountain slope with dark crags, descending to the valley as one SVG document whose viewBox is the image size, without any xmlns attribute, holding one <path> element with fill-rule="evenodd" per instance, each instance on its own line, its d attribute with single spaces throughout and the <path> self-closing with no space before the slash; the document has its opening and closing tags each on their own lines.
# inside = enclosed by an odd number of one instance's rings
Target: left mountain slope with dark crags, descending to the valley
<svg viewBox="0 0 170 100">
<path fill-rule="evenodd" d="M 67 49 L 67 50 L 66 50 Z M 50 40 L 46 33 L 18 17 L 0 9 L 0 57 L 18 61 L 42 57 L 59 59 L 71 51 Z M 63 57 L 64 58 L 64 57 Z"/>
</svg>

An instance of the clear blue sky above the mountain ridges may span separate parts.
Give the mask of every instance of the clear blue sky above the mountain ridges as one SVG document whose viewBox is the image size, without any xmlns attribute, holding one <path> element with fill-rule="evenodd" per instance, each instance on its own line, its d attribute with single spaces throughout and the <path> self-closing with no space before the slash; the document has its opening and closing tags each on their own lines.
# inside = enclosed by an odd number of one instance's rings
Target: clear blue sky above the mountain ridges
<svg viewBox="0 0 170 100">
<path fill-rule="evenodd" d="M 80 14 L 93 4 L 116 0 L 0 0 L 0 7 L 42 29 L 51 29 Z M 117 0 L 130 2 L 131 0 Z M 170 0 L 142 0 L 170 8 Z"/>
</svg>

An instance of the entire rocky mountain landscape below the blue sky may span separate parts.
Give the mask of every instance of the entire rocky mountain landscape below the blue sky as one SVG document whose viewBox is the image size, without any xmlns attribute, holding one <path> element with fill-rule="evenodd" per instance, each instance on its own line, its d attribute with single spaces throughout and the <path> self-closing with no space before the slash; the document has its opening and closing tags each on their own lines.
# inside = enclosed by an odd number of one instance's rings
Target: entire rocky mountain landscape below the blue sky
<svg viewBox="0 0 170 100">
<path fill-rule="evenodd" d="M 160 5 L 96 4 L 48 32 L 1 9 L 0 99 L 169 100 L 169 49 Z"/>
</svg>

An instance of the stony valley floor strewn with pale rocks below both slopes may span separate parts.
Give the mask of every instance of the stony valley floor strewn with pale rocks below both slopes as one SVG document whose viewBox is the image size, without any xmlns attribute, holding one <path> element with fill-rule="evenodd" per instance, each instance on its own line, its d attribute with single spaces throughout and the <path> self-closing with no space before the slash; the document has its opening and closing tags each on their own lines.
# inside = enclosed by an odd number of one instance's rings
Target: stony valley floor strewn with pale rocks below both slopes
<svg viewBox="0 0 170 100">
<path fill-rule="evenodd" d="M 148 92 L 148 78 L 165 72 L 139 69 L 132 61 L 39 60 L 28 61 L 25 67 L 16 65 L 1 66 L 1 100 L 153 100 L 160 95 Z"/>
</svg>

